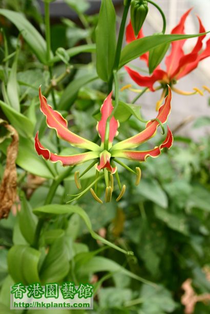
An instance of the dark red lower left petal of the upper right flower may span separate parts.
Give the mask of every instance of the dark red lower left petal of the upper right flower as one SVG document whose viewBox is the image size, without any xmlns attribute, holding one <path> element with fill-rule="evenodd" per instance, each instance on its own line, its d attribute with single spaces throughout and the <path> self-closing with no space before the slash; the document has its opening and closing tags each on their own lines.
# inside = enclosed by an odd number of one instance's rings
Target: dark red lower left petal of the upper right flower
<svg viewBox="0 0 210 314">
<path fill-rule="evenodd" d="M 151 76 L 143 76 L 140 75 L 138 72 L 129 68 L 129 66 L 124 66 L 125 70 L 128 72 L 130 77 L 136 82 L 139 86 L 149 87 L 152 92 L 155 91 L 153 85 L 157 81 L 167 81 L 167 74 L 163 70 L 155 70 Z"/>
</svg>

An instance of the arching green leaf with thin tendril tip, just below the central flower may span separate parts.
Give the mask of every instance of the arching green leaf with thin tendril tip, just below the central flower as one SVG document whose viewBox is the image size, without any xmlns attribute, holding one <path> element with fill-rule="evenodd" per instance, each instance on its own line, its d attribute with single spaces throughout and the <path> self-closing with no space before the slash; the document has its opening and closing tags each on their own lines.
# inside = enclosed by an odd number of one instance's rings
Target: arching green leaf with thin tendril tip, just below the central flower
<svg viewBox="0 0 210 314">
<path fill-rule="evenodd" d="M 127 252 L 119 246 L 115 245 L 114 243 L 109 242 L 108 240 L 100 237 L 97 233 L 95 233 L 92 229 L 91 221 L 90 218 L 88 217 L 87 213 L 79 206 L 74 206 L 74 205 L 59 205 L 59 204 L 52 204 L 52 205 L 46 205 L 42 206 L 39 208 L 35 208 L 33 210 L 35 215 L 40 215 L 40 216 L 49 216 L 49 214 L 52 215 L 61 215 L 61 214 L 73 214 L 76 213 L 78 214 L 83 221 L 86 223 L 86 226 L 91 234 L 91 236 L 96 239 L 101 241 L 102 243 L 111 246 L 111 248 L 118 250 L 124 254 L 132 254 L 131 252 Z"/>
</svg>

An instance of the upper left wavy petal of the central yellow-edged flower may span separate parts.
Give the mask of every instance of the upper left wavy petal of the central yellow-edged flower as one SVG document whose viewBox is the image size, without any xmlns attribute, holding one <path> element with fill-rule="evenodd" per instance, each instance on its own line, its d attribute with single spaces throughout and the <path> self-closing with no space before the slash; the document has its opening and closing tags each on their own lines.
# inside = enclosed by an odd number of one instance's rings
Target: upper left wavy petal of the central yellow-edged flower
<svg viewBox="0 0 210 314">
<path fill-rule="evenodd" d="M 58 111 L 53 110 L 47 103 L 47 99 L 41 94 L 39 87 L 40 110 L 46 116 L 46 123 L 57 132 L 57 136 L 73 146 L 86 148 L 89 150 L 99 150 L 99 146 L 89 140 L 83 139 L 68 129 L 68 122 Z"/>
</svg>

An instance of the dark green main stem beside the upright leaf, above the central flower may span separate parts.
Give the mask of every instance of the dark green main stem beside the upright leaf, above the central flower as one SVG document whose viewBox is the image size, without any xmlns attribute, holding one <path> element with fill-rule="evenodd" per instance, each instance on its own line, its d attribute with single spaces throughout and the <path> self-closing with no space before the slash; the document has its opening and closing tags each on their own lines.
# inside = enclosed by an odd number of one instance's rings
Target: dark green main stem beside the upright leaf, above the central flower
<svg viewBox="0 0 210 314">
<path fill-rule="evenodd" d="M 123 37 L 124 37 L 124 28 L 125 28 L 125 23 L 127 20 L 130 4 L 131 4 L 131 0 L 128 0 L 127 4 L 124 6 L 124 11 L 122 14 L 122 20 L 121 20 L 120 29 L 119 29 L 119 35 L 118 35 L 118 39 L 117 39 L 117 47 L 116 47 L 113 70 L 118 70 L 120 54 L 121 54 L 121 49 L 122 49 L 122 41 L 123 41 Z M 108 83 L 108 93 L 111 93 L 111 91 L 112 91 L 113 79 L 114 79 L 114 76 L 112 75 L 110 78 L 110 81 Z"/>
</svg>

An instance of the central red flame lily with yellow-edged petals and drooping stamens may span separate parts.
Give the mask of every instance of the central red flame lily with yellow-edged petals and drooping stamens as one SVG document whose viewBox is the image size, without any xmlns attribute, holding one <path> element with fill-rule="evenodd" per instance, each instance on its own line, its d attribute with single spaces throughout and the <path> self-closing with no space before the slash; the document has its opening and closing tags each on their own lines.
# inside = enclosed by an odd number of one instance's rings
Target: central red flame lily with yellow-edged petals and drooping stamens
<svg viewBox="0 0 210 314">
<path fill-rule="evenodd" d="M 49 149 L 45 148 L 38 139 L 38 132 L 35 136 L 35 150 L 38 155 L 43 156 L 44 159 L 50 160 L 51 162 L 60 162 L 62 166 L 74 166 L 81 163 L 85 163 L 86 161 L 93 160 L 91 165 L 83 171 L 81 175 L 79 172 L 75 172 L 75 183 L 78 189 L 81 188 L 79 178 L 85 174 L 88 170 L 90 170 L 93 166 L 96 168 L 96 177 L 92 184 L 83 190 L 81 193 L 74 195 L 75 197 L 72 200 L 78 199 L 81 195 L 86 193 L 88 190 L 91 191 L 93 197 L 102 203 L 102 200 L 97 196 L 97 182 L 104 176 L 106 183 L 106 193 L 105 200 L 108 202 L 111 200 L 113 187 L 114 187 L 114 179 L 113 174 L 116 176 L 116 180 L 120 189 L 119 196 L 117 197 L 117 201 L 123 196 L 125 192 L 125 185 L 121 187 L 121 183 L 119 180 L 119 175 L 117 172 L 117 167 L 115 162 L 125 167 L 127 170 L 131 171 L 136 175 L 136 184 L 139 183 L 141 177 L 141 170 L 139 167 L 136 167 L 136 171 L 132 170 L 127 165 L 124 165 L 118 158 L 129 159 L 133 161 L 143 162 L 148 158 L 157 157 L 161 150 L 166 147 L 170 148 L 173 143 L 173 136 L 170 128 L 167 128 L 167 135 L 165 140 L 157 147 L 146 150 L 146 151 L 135 151 L 129 150 L 129 148 L 138 147 L 141 143 L 148 141 L 152 138 L 159 125 L 162 125 L 166 122 L 167 117 L 170 114 L 171 110 L 171 89 L 169 87 L 169 94 L 165 98 L 164 104 L 159 108 L 159 112 L 157 118 L 149 121 L 146 124 L 146 127 L 143 131 L 136 134 L 135 136 L 118 142 L 116 144 L 112 144 L 114 137 L 117 135 L 117 129 L 119 127 L 118 121 L 112 116 L 113 105 L 112 105 L 112 92 L 108 95 L 108 97 L 104 100 L 101 106 L 101 120 L 97 123 L 97 131 L 99 133 L 101 139 L 101 145 L 97 145 L 89 140 L 86 140 L 82 137 L 79 137 L 75 133 L 71 132 L 68 129 L 67 120 L 65 120 L 58 111 L 52 109 L 52 107 L 47 103 L 47 99 L 41 94 L 41 89 L 39 88 L 39 101 L 40 101 L 40 110 L 46 116 L 46 123 L 50 128 L 53 128 L 57 132 L 57 136 L 67 142 L 69 142 L 72 146 L 77 146 L 79 148 L 86 149 L 87 151 L 81 152 L 79 154 L 70 155 L 70 156 L 61 156 L 56 153 L 52 153 Z M 108 120 L 109 119 L 109 120 Z M 108 134 L 108 148 L 105 149 L 105 141 L 106 141 L 106 124 L 107 120 L 109 121 L 109 134 Z M 101 172 L 103 172 L 101 174 Z M 95 185 L 95 189 L 92 189 L 93 185 Z"/>
</svg>

